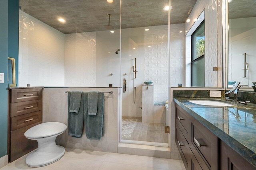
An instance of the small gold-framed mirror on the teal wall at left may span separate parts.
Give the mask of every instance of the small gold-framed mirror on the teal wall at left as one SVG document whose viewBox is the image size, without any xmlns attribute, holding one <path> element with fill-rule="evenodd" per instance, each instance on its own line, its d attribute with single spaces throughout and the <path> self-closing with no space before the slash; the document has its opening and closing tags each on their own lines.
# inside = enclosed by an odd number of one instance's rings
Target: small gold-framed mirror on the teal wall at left
<svg viewBox="0 0 256 170">
<path fill-rule="evenodd" d="M 16 87 L 15 59 L 8 57 L 7 81 L 9 87 Z"/>
</svg>

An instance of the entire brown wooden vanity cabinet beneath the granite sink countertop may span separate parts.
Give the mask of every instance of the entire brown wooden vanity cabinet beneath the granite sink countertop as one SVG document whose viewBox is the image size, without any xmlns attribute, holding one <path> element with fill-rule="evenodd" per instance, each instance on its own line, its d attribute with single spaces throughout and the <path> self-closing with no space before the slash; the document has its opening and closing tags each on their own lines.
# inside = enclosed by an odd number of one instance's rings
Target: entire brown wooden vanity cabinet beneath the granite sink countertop
<svg viewBox="0 0 256 170">
<path fill-rule="evenodd" d="M 186 170 L 256 170 L 178 104 L 175 117 L 176 145 Z"/>
</svg>

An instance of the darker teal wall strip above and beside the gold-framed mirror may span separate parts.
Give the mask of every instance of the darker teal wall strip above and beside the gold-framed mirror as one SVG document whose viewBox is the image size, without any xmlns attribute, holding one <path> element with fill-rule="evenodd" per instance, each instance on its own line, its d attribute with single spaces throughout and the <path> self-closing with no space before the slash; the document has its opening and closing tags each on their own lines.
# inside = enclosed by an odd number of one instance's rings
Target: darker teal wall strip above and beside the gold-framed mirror
<svg viewBox="0 0 256 170">
<path fill-rule="evenodd" d="M 19 0 L 8 0 L 8 57 L 15 59 L 16 84 L 18 84 L 19 53 Z"/>
</svg>

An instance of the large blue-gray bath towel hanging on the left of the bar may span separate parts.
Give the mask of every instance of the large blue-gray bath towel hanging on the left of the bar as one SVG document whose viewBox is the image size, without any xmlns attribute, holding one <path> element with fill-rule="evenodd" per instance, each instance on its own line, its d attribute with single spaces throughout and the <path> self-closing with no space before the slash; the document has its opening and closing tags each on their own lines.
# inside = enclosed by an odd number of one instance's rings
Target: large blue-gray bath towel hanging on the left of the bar
<svg viewBox="0 0 256 170">
<path fill-rule="evenodd" d="M 82 137 L 84 127 L 84 98 L 83 95 L 80 96 L 80 108 L 78 113 L 70 112 L 71 95 L 72 92 L 68 92 L 68 136 Z M 77 96 L 77 98 L 79 98 L 79 96 Z"/>
</svg>

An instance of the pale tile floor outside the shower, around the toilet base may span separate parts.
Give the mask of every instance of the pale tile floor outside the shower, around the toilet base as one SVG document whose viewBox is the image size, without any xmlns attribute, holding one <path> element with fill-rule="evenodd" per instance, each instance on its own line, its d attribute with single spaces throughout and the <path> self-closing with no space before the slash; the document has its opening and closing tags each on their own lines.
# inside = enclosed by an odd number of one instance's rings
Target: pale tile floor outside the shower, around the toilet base
<svg viewBox="0 0 256 170">
<path fill-rule="evenodd" d="M 0 170 L 185 170 L 181 160 L 81 149 L 66 149 L 60 160 L 39 168 L 26 166 L 26 156 Z"/>
</svg>

